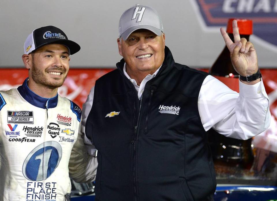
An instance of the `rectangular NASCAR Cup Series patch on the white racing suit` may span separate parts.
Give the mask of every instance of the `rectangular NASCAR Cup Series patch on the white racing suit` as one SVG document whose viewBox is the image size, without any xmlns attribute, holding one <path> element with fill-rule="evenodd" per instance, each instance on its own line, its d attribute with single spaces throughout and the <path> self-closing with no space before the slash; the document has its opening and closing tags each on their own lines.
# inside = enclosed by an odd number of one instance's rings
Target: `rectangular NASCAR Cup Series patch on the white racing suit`
<svg viewBox="0 0 277 201">
<path fill-rule="evenodd" d="M 33 111 L 8 111 L 8 123 L 33 124 Z"/>
</svg>

